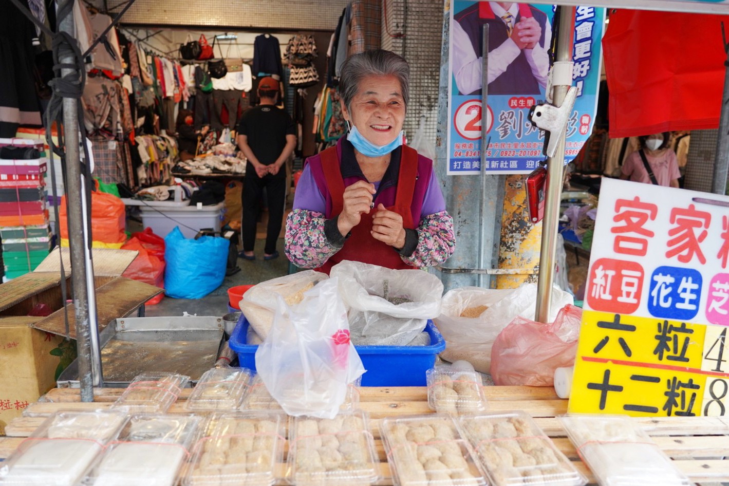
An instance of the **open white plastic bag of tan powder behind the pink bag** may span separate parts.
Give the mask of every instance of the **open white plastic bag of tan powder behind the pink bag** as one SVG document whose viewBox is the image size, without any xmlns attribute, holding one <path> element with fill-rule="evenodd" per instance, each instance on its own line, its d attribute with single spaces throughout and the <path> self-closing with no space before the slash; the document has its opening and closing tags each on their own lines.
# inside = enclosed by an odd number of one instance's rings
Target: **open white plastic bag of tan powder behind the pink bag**
<svg viewBox="0 0 729 486">
<path fill-rule="evenodd" d="M 550 322 L 562 307 L 573 303 L 571 294 L 554 287 Z M 479 316 L 461 317 L 464 310 L 480 305 L 488 308 Z M 518 315 L 534 320 L 536 308 L 536 283 L 525 283 L 517 289 L 463 287 L 446 292 L 441 314 L 434 319 L 445 338 L 445 351 L 440 357 L 451 362 L 464 359 L 477 371 L 489 373 L 496 336 Z"/>
</svg>

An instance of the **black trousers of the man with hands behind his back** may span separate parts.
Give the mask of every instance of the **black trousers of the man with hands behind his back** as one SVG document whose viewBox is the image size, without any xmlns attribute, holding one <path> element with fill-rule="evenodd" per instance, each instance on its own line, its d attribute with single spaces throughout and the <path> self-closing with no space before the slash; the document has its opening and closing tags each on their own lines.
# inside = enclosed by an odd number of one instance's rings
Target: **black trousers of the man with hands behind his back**
<svg viewBox="0 0 729 486">
<path fill-rule="evenodd" d="M 281 170 L 284 170 L 282 167 Z M 243 222 L 241 223 L 241 239 L 243 251 L 253 251 L 256 243 L 256 222 L 260 209 L 260 200 L 263 188 L 266 189 L 266 202 L 268 203 L 268 228 L 266 230 L 266 246 L 263 251 L 272 254 L 276 251 L 276 241 L 281 232 L 281 223 L 284 221 L 284 203 L 286 202 L 286 178 L 257 176 L 255 171 L 246 173 L 243 181 Z"/>
</svg>

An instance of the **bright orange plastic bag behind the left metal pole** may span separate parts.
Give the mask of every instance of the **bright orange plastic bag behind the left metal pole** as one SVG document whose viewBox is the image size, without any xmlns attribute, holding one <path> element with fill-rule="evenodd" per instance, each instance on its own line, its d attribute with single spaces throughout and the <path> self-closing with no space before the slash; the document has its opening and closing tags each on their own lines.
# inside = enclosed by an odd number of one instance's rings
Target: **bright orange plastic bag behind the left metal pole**
<svg viewBox="0 0 729 486">
<path fill-rule="evenodd" d="M 66 195 L 61 197 L 58 217 L 61 219 L 61 238 L 69 239 L 69 224 L 66 219 Z M 91 236 L 102 243 L 124 243 L 126 212 L 119 197 L 106 192 L 91 192 Z"/>
</svg>

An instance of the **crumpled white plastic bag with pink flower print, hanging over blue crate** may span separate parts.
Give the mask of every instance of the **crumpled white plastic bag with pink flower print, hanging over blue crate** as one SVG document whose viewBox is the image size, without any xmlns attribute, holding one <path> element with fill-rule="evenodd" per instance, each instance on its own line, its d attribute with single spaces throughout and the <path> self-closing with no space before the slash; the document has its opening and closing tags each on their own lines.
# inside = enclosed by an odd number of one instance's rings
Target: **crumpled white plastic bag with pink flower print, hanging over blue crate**
<svg viewBox="0 0 729 486">
<path fill-rule="evenodd" d="M 365 371 L 337 285 L 323 281 L 296 305 L 278 297 L 273 326 L 256 351 L 258 374 L 289 415 L 334 418 L 348 384 Z"/>
</svg>

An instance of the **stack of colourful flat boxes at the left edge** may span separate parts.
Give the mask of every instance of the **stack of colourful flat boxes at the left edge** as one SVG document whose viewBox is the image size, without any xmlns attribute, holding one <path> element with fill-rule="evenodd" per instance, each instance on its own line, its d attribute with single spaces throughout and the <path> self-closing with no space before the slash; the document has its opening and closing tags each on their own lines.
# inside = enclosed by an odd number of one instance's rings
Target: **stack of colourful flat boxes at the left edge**
<svg viewBox="0 0 729 486">
<path fill-rule="evenodd" d="M 3 281 L 31 272 L 50 251 L 46 170 L 42 141 L 0 138 Z"/>
</svg>

